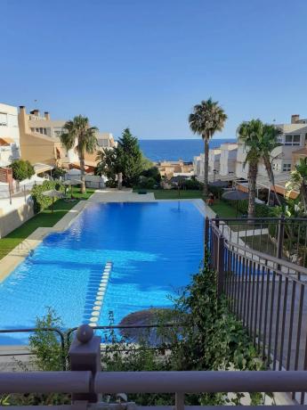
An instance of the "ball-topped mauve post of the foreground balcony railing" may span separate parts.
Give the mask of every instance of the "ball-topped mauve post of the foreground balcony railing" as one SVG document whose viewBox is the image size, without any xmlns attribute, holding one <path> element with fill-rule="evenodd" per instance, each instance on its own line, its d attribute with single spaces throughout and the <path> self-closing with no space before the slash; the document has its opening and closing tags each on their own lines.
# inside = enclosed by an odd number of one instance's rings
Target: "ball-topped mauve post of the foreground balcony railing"
<svg viewBox="0 0 307 410">
<path fill-rule="evenodd" d="M 70 367 L 73 371 L 89 370 L 93 374 L 101 371 L 101 337 L 93 336 L 93 328 L 82 324 L 77 329 L 77 337 L 69 348 Z M 74 393 L 72 401 L 84 400 L 97 403 L 98 395 L 93 391 L 93 382 L 89 393 Z"/>
</svg>

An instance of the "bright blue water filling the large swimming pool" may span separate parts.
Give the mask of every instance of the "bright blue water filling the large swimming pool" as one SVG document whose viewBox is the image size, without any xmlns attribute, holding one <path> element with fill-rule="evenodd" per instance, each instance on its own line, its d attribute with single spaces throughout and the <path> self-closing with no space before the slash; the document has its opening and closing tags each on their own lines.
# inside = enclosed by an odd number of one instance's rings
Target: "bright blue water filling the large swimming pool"
<svg viewBox="0 0 307 410">
<path fill-rule="evenodd" d="M 198 271 L 204 218 L 192 202 L 92 204 L 60 234 L 50 234 L 0 283 L 0 328 L 33 326 L 53 307 L 66 328 L 85 322 L 93 288 L 113 263 L 98 324 L 147 307 L 166 307 Z M 25 341 L 2 335 L 2 344 Z"/>
</svg>

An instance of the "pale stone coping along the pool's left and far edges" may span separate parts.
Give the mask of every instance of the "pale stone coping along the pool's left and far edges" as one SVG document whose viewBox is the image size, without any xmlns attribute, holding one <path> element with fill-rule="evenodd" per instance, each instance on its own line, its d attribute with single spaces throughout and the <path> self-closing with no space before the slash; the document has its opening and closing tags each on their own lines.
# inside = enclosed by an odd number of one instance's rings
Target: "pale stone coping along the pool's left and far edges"
<svg viewBox="0 0 307 410">
<path fill-rule="evenodd" d="M 11 250 L 4 258 L 1 259 L 1 272 L 0 272 L 0 283 L 2 283 L 12 271 L 20 265 L 20 263 L 28 257 L 28 254 L 35 250 L 36 247 L 44 241 L 44 237 L 48 234 L 55 232 L 63 232 L 69 228 L 69 226 L 76 220 L 77 217 L 84 211 L 84 209 L 92 203 L 117 203 L 117 202 L 165 202 L 165 201 L 182 201 L 182 202 L 192 202 L 195 207 L 203 216 L 214 217 L 215 214 L 210 209 L 206 203 L 201 199 L 167 199 L 167 200 L 156 200 L 153 193 L 146 193 L 140 195 L 138 193 L 132 193 L 131 191 L 114 191 L 114 190 L 97 190 L 93 195 L 86 201 L 79 201 L 72 208 L 69 209 L 67 214 L 53 226 L 50 227 L 39 227 L 28 235 L 28 237 L 20 242 L 13 250 Z M 211 215 L 212 214 L 212 215 Z"/>
</svg>

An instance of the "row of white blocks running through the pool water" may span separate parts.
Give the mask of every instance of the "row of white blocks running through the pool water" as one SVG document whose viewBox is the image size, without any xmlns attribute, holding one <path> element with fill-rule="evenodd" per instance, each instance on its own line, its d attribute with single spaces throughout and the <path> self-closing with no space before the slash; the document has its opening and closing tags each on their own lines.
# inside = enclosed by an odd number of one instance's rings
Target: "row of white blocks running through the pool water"
<svg viewBox="0 0 307 410">
<path fill-rule="evenodd" d="M 97 326 L 97 322 L 101 316 L 103 299 L 107 291 L 112 267 L 113 263 L 108 261 L 104 266 L 102 274 L 99 277 L 96 276 L 92 278 L 91 284 L 89 285 L 88 291 L 91 293 L 91 301 L 89 301 L 85 307 L 85 324 L 89 324 L 92 327 Z"/>
</svg>

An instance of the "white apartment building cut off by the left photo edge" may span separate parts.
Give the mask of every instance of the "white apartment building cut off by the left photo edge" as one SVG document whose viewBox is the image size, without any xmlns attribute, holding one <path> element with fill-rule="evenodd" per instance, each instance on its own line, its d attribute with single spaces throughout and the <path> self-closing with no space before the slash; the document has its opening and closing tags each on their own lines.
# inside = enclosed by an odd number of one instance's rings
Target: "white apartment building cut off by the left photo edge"
<svg viewBox="0 0 307 410">
<path fill-rule="evenodd" d="M 0 103 L 0 167 L 6 167 L 12 160 L 20 158 L 20 128 L 18 109 Z"/>
</svg>

